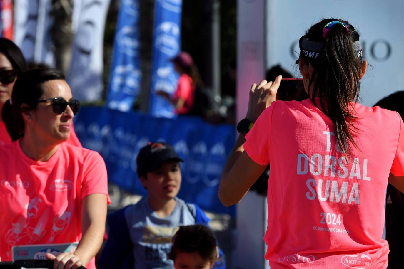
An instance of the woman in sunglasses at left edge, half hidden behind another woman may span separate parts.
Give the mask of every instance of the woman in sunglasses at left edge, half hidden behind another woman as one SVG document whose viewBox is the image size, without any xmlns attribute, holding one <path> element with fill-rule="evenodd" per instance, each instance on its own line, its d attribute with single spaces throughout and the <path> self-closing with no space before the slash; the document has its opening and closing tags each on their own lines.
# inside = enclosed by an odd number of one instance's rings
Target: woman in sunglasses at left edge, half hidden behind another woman
<svg viewBox="0 0 404 269">
<path fill-rule="evenodd" d="M 25 58 L 16 44 L 6 38 L 0 38 L 0 113 L 4 103 L 11 98 L 15 80 L 23 72 L 27 71 Z M 0 117 L 0 145 L 11 142 L 6 126 Z M 81 147 L 74 133 L 73 125 L 68 143 Z"/>
</svg>

